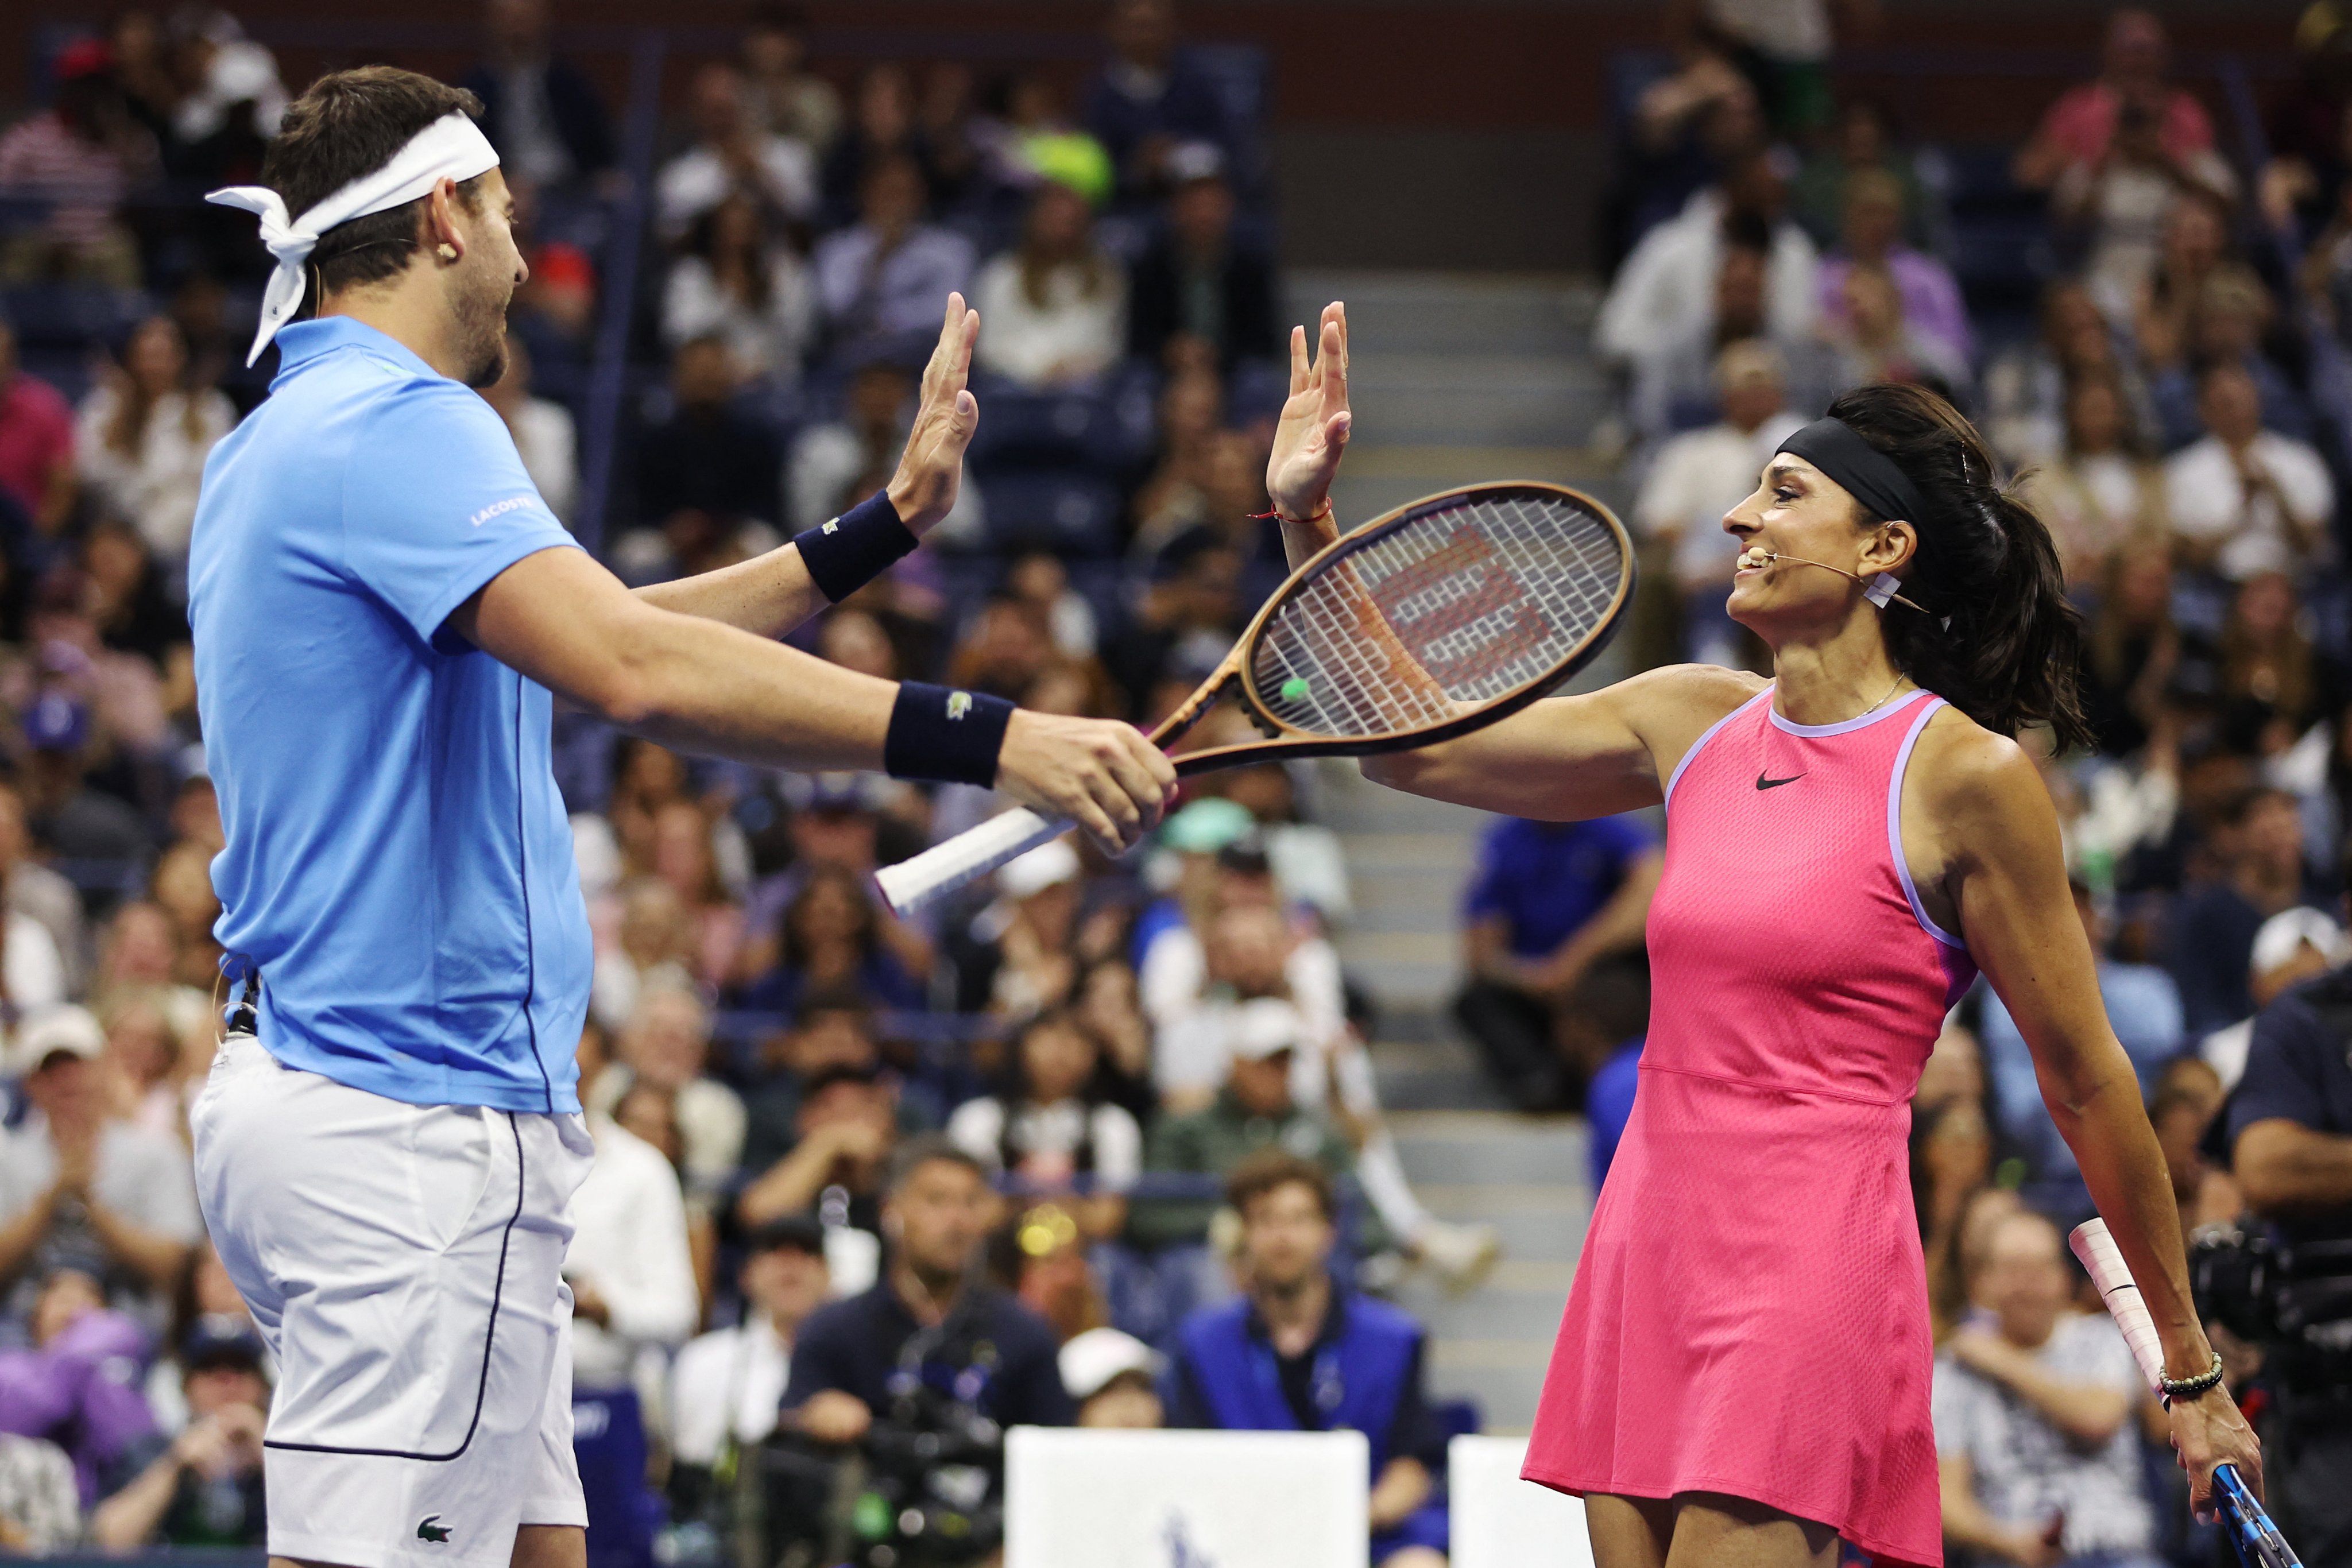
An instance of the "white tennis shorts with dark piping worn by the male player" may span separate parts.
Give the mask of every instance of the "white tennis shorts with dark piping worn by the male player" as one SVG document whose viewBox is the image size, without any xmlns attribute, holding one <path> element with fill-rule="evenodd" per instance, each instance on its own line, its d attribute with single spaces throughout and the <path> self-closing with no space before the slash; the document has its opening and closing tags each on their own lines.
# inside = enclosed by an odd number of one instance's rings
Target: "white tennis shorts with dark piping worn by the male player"
<svg viewBox="0 0 2352 1568">
<path fill-rule="evenodd" d="M 205 1225 L 278 1356 L 270 1554 L 506 1568 L 586 1526 L 564 1206 L 581 1117 L 405 1105 L 233 1034 L 191 1110 Z"/>
</svg>

